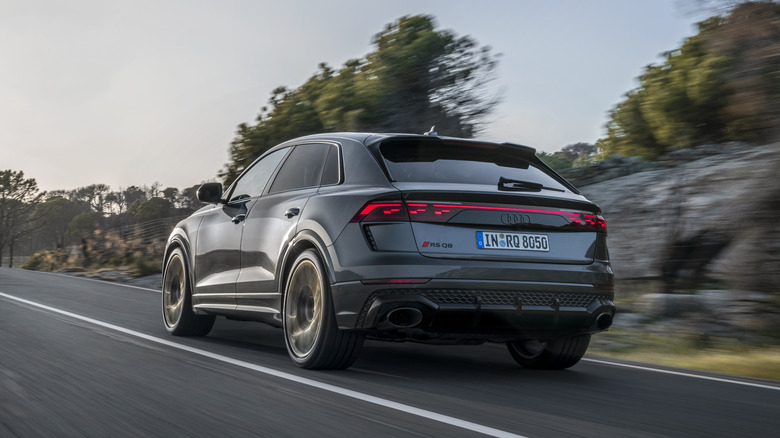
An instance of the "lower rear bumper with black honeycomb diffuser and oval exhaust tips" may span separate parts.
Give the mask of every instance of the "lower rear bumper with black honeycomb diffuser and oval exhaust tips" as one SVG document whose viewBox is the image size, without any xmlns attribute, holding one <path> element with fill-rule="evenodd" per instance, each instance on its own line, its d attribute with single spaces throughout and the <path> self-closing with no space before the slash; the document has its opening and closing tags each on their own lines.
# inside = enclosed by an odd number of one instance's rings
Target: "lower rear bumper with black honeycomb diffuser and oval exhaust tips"
<svg viewBox="0 0 780 438">
<path fill-rule="evenodd" d="M 604 331 L 615 314 L 614 294 L 593 285 L 432 280 L 422 285 L 350 282 L 333 285 L 332 291 L 340 328 L 398 340 L 568 337 Z M 402 312 L 413 317 L 391 317 Z"/>
</svg>

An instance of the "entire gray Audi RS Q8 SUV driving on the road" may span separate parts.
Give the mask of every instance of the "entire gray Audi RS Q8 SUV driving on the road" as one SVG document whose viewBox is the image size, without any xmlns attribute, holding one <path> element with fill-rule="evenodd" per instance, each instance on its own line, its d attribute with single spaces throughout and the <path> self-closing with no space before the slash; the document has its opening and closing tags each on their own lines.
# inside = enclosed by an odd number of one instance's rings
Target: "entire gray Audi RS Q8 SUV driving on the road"
<svg viewBox="0 0 780 438">
<path fill-rule="evenodd" d="M 606 222 L 527 146 L 312 135 L 198 197 L 165 251 L 173 335 L 221 315 L 281 327 L 304 368 L 346 368 L 371 338 L 502 342 L 562 369 L 612 324 Z"/>
</svg>

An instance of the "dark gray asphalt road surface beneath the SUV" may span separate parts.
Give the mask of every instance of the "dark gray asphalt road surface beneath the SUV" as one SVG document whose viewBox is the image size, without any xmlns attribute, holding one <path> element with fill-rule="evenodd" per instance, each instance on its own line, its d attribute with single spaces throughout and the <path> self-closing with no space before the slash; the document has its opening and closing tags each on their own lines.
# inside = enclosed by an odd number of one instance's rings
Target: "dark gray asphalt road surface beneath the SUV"
<svg viewBox="0 0 780 438">
<path fill-rule="evenodd" d="M 0 268 L 0 437 L 38 436 L 780 436 L 780 382 L 526 370 L 492 344 L 367 342 L 348 370 L 306 371 L 278 329 L 172 337 L 158 291 Z"/>
</svg>

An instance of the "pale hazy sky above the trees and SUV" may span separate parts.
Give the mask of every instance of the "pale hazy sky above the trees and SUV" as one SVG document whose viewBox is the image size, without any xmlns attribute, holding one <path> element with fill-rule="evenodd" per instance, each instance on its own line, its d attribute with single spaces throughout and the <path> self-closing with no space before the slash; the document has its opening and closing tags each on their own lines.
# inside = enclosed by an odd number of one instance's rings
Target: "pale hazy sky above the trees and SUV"
<svg viewBox="0 0 780 438">
<path fill-rule="evenodd" d="M 696 33 L 693 1 L 0 0 L 0 170 L 43 190 L 212 180 L 271 90 L 415 14 L 502 54 L 481 138 L 594 143 L 644 66 Z"/>
</svg>

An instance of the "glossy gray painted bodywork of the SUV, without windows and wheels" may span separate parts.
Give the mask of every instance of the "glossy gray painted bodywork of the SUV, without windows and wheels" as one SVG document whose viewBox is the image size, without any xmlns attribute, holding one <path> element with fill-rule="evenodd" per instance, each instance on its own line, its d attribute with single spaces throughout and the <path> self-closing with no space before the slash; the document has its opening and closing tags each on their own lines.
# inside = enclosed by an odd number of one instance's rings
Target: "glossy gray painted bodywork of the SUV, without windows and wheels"
<svg viewBox="0 0 780 438">
<path fill-rule="evenodd" d="M 166 253 L 181 247 L 187 255 L 195 311 L 281 325 L 291 263 L 311 248 L 322 259 L 342 330 L 377 338 L 453 342 L 602 331 L 605 327 L 597 320 L 603 315 L 611 320 L 614 314 L 606 238 L 595 231 L 569 230 L 564 217 L 595 217 L 598 206 L 535 158 L 532 149 L 507 144 L 497 147 L 523 154 L 537 173 L 554 180 L 550 186 L 560 189 L 507 192 L 497 185 L 393 181 L 379 145 L 418 139 L 422 136 L 314 135 L 283 143 L 258 158 L 261 162 L 284 148 L 330 145 L 338 151 L 338 183 L 269 193 L 283 160 L 258 196 L 230 202 L 234 183 L 223 203 L 206 206 L 177 225 Z M 464 211 L 446 224 L 354 220 L 367 203 L 384 201 L 492 207 Z M 550 248 L 478 248 L 477 232 L 544 234 Z M 462 296 L 462 302 L 440 299 L 448 293 Z M 533 294 L 541 297 L 538 302 L 529 298 Z M 510 298 L 495 301 L 498 296 Z M 571 300 L 579 303 L 579 296 L 585 297 L 584 304 L 567 305 Z M 389 312 L 401 305 L 420 308 L 421 324 L 388 325 Z"/>
</svg>

